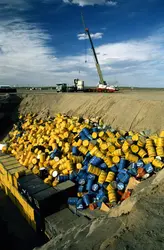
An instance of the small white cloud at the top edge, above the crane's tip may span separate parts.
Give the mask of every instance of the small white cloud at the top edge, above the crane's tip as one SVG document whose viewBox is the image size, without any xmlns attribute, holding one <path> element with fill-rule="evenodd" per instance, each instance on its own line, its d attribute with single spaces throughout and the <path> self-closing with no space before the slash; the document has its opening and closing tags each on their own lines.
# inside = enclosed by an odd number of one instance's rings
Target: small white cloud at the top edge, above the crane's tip
<svg viewBox="0 0 164 250">
<path fill-rule="evenodd" d="M 112 0 L 63 0 L 64 3 L 77 4 L 81 7 L 86 5 L 108 5 L 116 6 L 117 2 Z"/>
</svg>

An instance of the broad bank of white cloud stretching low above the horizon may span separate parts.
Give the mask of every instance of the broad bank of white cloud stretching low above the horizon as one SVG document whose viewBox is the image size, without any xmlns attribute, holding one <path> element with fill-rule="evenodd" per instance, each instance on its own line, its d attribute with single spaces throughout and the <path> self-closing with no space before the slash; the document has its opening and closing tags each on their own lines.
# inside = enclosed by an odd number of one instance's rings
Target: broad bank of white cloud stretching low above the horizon
<svg viewBox="0 0 164 250">
<path fill-rule="evenodd" d="M 104 79 L 118 80 L 120 85 L 163 84 L 163 34 L 161 29 L 147 39 L 96 47 Z M 83 54 L 57 58 L 54 49 L 47 45 L 49 39 L 43 30 L 22 19 L 1 20 L 0 82 L 43 86 L 58 82 L 71 84 L 78 77 L 87 85 L 97 84 L 91 50 L 88 50 L 87 63 Z"/>
</svg>

